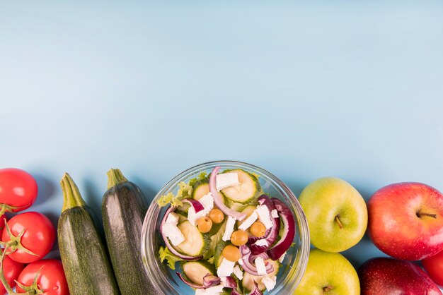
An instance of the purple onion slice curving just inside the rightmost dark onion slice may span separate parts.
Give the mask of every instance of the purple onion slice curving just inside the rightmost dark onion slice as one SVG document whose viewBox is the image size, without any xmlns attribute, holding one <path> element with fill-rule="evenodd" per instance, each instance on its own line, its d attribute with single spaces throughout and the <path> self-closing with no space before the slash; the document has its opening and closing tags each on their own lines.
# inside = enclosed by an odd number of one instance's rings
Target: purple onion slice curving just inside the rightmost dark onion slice
<svg viewBox="0 0 443 295">
<path fill-rule="evenodd" d="M 272 200 L 267 195 L 260 195 L 260 198 L 258 198 L 258 203 L 260 203 L 260 205 L 266 205 L 267 210 L 269 210 L 269 212 L 272 212 L 272 210 L 276 209 L 274 202 L 272 202 Z M 275 241 L 277 240 L 278 233 L 280 231 L 280 217 L 275 217 L 275 218 L 271 217 L 271 221 L 272 221 L 272 227 L 270 229 L 267 229 L 264 236 L 249 237 L 248 244 L 249 247 L 251 248 L 251 252 L 253 253 L 253 255 L 258 255 L 260 253 L 267 251 L 267 249 L 269 249 L 270 246 L 272 246 L 272 244 L 275 243 Z M 255 245 L 255 242 L 260 239 L 265 239 L 267 241 L 267 246 Z"/>
</svg>

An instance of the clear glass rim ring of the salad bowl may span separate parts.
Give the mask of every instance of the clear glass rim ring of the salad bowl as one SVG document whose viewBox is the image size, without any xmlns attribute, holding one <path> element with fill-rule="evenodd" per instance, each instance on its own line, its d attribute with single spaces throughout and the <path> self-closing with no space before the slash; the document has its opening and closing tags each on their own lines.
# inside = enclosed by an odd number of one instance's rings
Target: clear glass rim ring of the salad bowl
<svg viewBox="0 0 443 295">
<path fill-rule="evenodd" d="M 238 166 L 238 167 L 243 167 L 246 169 L 253 169 L 253 170 L 259 171 L 260 174 L 265 175 L 267 177 L 267 179 L 270 179 L 274 184 L 277 184 L 277 187 L 280 186 L 280 188 L 282 188 L 283 193 L 284 193 L 284 197 L 289 202 L 289 207 L 291 207 L 291 210 L 295 213 L 294 218 L 296 219 L 296 222 L 297 222 L 297 228 L 299 229 L 299 237 L 300 237 L 300 246 L 299 246 L 299 249 L 297 250 L 296 258 L 294 260 L 295 262 L 298 261 L 299 267 L 297 267 L 297 270 L 295 270 L 295 267 L 289 267 L 289 272 L 287 272 L 285 274 L 284 280 L 281 283 L 282 285 L 286 285 L 286 284 L 289 284 L 289 282 L 290 282 L 292 284 L 291 289 L 289 289 L 289 290 L 285 289 L 284 291 L 288 291 L 290 294 L 292 294 L 294 292 L 294 290 L 297 288 L 297 286 L 299 285 L 299 282 L 301 281 L 301 278 L 304 275 L 304 272 L 306 270 L 306 266 L 308 263 L 309 251 L 311 248 L 310 247 L 311 246 L 310 236 L 309 236 L 309 225 L 308 225 L 308 222 L 306 219 L 306 215 L 304 215 L 304 211 L 301 208 L 301 205 L 300 205 L 299 201 L 297 200 L 297 197 L 295 196 L 295 194 L 286 185 L 286 183 L 284 183 L 282 180 L 280 180 L 277 176 L 275 176 L 274 174 L 270 173 L 269 171 L 267 171 L 263 168 L 255 166 L 253 164 L 249 164 L 246 162 L 240 162 L 240 161 L 234 161 L 234 160 L 216 160 L 216 161 L 208 161 L 208 162 L 204 162 L 202 164 L 194 165 L 188 169 L 185 169 L 184 171 L 180 172 L 179 174 L 177 174 L 175 177 L 173 177 L 173 179 L 168 181 L 159 190 L 158 193 L 156 193 L 154 199 L 152 200 L 152 202 L 149 205 L 149 208 L 146 212 L 144 222 L 143 222 L 143 227 L 142 227 L 142 235 L 140 237 L 141 238 L 140 250 L 142 252 L 141 253 L 142 260 L 143 260 L 144 270 L 146 271 L 146 275 L 148 275 L 148 277 L 150 279 L 151 279 L 151 277 L 154 277 L 156 275 L 155 273 L 153 273 L 153 271 L 151 270 L 151 267 L 149 267 L 149 265 L 148 265 L 149 264 L 148 261 L 150 258 L 149 253 L 153 253 L 151 256 L 154 256 L 154 257 L 151 257 L 151 258 L 155 258 L 156 251 L 148 251 L 148 249 L 152 248 L 152 247 L 148 247 L 150 245 L 147 245 L 148 243 L 146 243 L 146 237 L 149 233 L 149 230 L 148 230 L 149 217 L 151 215 L 154 215 L 154 210 L 156 210 L 156 209 L 159 211 L 157 215 L 159 216 L 161 214 L 160 213 L 161 207 L 159 207 L 159 205 L 157 204 L 157 200 L 159 200 L 160 196 L 163 195 L 166 191 L 171 190 L 171 188 L 173 186 L 175 186 L 177 183 L 179 183 L 181 179 L 186 178 L 191 173 L 195 173 L 199 169 L 205 170 L 205 169 L 209 169 L 210 167 L 217 167 L 217 166 L 234 166 L 234 167 Z M 157 266 L 158 266 L 158 264 L 157 264 Z M 160 270 L 160 272 L 161 272 L 161 270 Z M 292 277 L 294 277 L 295 279 L 292 280 Z M 173 286 L 171 285 L 170 282 L 168 282 L 168 280 L 166 280 L 166 283 L 169 284 L 169 287 L 173 288 Z M 173 291 L 173 292 L 177 291 L 174 288 L 170 289 L 170 290 L 163 290 L 163 289 L 159 290 L 159 288 L 158 288 L 159 286 L 158 286 L 157 282 L 154 282 L 153 285 L 157 291 L 162 291 L 162 292 L 168 291 L 167 294 L 178 294 L 178 293 L 171 293 L 171 291 Z M 279 291 L 282 291 L 282 290 L 279 290 Z"/>
</svg>

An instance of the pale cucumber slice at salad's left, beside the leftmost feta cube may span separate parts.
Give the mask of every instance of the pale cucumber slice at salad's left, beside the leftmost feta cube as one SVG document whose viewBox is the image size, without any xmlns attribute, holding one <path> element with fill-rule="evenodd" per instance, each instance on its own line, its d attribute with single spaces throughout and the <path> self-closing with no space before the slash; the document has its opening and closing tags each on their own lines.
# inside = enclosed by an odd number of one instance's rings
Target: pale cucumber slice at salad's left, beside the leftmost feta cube
<svg viewBox="0 0 443 295">
<path fill-rule="evenodd" d="M 177 251 L 185 255 L 200 256 L 209 249 L 211 245 L 210 234 L 202 234 L 188 220 L 178 224 L 177 227 L 185 236 L 185 241 L 177 245 Z"/>
</svg>

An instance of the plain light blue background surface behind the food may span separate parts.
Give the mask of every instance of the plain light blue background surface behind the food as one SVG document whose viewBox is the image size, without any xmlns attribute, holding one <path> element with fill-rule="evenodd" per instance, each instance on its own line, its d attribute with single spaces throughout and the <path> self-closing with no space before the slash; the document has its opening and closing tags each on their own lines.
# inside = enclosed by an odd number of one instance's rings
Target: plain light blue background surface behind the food
<svg viewBox="0 0 443 295">
<path fill-rule="evenodd" d="M 385 2 L 3 2 L 0 167 L 53 220 L 64 171 L 98 212 L 110 167 L 152 198 L 213 159 L 443 190 L 443 3 Z"/>
</svg>

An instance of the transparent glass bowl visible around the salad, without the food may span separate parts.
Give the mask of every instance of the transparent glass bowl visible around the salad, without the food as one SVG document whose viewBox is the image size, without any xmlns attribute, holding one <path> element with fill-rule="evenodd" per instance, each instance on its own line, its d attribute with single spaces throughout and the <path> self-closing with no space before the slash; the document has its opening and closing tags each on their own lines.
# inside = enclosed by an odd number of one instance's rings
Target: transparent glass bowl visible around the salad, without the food
<svg viewBox="0 0 443 295">
<path fill-rule="evenodd" d="M 192 167 L 178 174 L 178 176 L 166 183 L 166 186 L 163 186 L 159 193 L 157 193 L 144 218 L 141 249 L 144 268 L 154 288 L 159 294 L 195 294 L 195 291 L 191 287 L 179 279 L 175 271 L 169 269 L 166 262 L 160 263 L 159 248 L 160 246 L 164 246 L 160 233 L 160 224 L 167 210 L 167 206 L 159 207 L 157 200 L 159 200 L 161 195 L 166 195 L 170 192 L 174 194 L 177 193 L 178 183 L 180 183 L 180 181 L 187 183 L 190 179 L 197 177 L 202 171 L 207 172 L 209 175 L 212 169 L 217 166 L 222 167 L 222 169 L 220 169 L 221 171 L 224 169 L 243 169 L 258 174 L 260 176 L 258 180 L 260 181 L 263 191 L 272 197 L 283 200 L 292 210 L 296 221 L 295 245 L 287 251 L 283 265 L 280 267 L 277 275 L 275 288 L 272 289 L 272 291 L 265 291 L 264 293 L 268 295 L 292 294 L 297 288 L 301 277 L 304 275 L 309 257 L 309 229 L 304 212 L 294 193 L 292 193 L 280 179 L 277 179 L 276 176 L 251 164 L 234 161 L 214 161 Z M 176 267 L 178 267 L 178 263 Z M 178 269 L 178 271 L 180 270 Z"/>
</svg>

